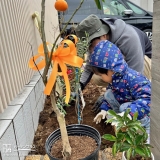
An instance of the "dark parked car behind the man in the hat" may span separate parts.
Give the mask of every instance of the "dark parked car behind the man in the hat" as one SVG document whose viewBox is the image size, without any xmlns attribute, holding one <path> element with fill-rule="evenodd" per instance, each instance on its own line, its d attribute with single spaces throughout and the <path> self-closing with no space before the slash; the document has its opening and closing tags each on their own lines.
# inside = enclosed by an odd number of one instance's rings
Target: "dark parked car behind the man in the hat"
<svg viewBox="0 0 160 160">
<path fill-rule="evenodd" d="M 66 0 L 68 3 L 68 10 L 59 13 L 63 17 L 63 23 L 60 22 L 60 29 L 70 19 L 75 9 L 79 6 L 79 0 Z M 142 9 L 129 0 L 105 0 L 101 1 L 102 10 L 99 10 L 94 0 L 84 0 L 81 8 L 74 15 L 68 29 L 80 23 L 84 18 L 90 14 L 96 14 L 99 18 L 116 17 L 124 20 L 147 34 L 152 41 L 152 13 Z"/>
</svg>

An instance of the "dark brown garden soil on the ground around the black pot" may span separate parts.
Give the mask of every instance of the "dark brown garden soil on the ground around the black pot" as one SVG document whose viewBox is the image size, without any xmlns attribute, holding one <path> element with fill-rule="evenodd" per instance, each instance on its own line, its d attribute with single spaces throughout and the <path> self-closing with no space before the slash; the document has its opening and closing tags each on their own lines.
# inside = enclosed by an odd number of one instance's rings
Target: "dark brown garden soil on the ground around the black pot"
<svg viewBox="0 0 160 160">
<path fill-rule="evenodd" d="M 97 100 L 97 98 L 101 94 L 103 94 L 103 92 L 104 92 L 104 88 L 98 87 L 92 82 L 90 82 L 86 86 L 86 88 L 83 91 L 83 97 L 86 105 L 82 112 L 81 124 L 86 124 L 96 128 L 99 131 L 101 136 L 106 133 L 114 135 L 114 129 L 110 124 L 106 124 L 105 121 L 102 121 L 100 124 L 96 124 L 95 122 L 93 122 L 93 119 L 96 116 L 96 113 L 92 111 L 92 107 L 95 101 Z M 71 103 L 71 105 L 69 107 L 66 107 L 65 110 L 67 113 L 65 116 L 66 125 L 78 124 L 77 109 L 75 107 L 75 104 Z M 57 118 L 55 113 L 52 110 L 50 97 L 47 96 L 44 104 L 44 110 L 40 113 L 39 124 L 34 137 L 33 145 L 35 146 L 34 149 L 36 151 L 30 154 L 45 155 L 46 154 L 45 141 L 47 137 L 58 128 L 59 126 L 58 126 Z M 112 142 L 102 139 L 102 143 L 100 147 L 102 151 L 101 152 L 102 157 L 106 156 L 104 155 L 104 153 L 107 153 L 108 160 L 120 160 L 121 155 L 120 157 L 117 157 L 117 158 L 112 157 L 111 149 L 110 149 L 112 147 L 112 144 L 113 144 Z M 88 146 L 90 146 L 89 143 L 88 143 Z"/>
</svg>

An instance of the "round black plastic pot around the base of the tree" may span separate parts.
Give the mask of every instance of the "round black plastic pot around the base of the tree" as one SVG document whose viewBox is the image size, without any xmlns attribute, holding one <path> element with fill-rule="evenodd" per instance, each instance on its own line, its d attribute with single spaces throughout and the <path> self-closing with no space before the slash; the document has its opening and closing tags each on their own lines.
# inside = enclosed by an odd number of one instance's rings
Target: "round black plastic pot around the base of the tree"
<svg viewBox="0 0 160 160">
<path fill-rule="evenodd" d="M 95 139 L 95 141 L 97 142 L 96 150 L 89 156 L 83 158 L 82 160 L 98 160 L 98 152 L 99 152 L 100 145 L 101 145 L 101 136 L 95 128 L 88 126 L 88 125 L 83 125 L 83 124 L 72 124 L 72 125 L 67 126 L 67 133 L 68 133 L 68 136 L 88 136 L 88 137 Z M 46 140 L 45 150 L 50 160 L 59 160 L 57 158 L 54 158 L 50 154 L 50 151 L 54 143 L 60 137 L 61 137 L 60 129 L 57 129 L 53 133 L 51 133 Z"/>
</svg>

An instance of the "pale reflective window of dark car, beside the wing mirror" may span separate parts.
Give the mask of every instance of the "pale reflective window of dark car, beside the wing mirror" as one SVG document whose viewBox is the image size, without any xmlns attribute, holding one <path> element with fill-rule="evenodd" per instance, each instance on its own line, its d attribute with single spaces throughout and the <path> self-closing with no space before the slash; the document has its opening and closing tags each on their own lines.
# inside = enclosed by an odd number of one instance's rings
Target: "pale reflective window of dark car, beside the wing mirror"
<svg viewBox="0 0 160 160">
<path fill-rule="evenodd" d="M 116 0 L 106 0 L 103 2 L 103 13 L 106 15 L 123 15 L 126 7 Z"/>
</svg>

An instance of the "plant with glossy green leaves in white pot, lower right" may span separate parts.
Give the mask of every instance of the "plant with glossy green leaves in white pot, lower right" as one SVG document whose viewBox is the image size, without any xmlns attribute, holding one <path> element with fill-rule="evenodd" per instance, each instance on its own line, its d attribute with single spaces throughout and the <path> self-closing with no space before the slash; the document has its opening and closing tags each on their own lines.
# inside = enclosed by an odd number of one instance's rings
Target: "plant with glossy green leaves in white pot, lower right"
<svg viewBox="0 0 160 160">
<path fill-rule="evenodd" d="M 115 136 L 105 134 L 102 136 L 105 140 L 113 141 L 112 154 L 115 156 L 118 152 L 123 152 L 122 160 L 136 160 L 138 157 L 145 158 L 144 160 L 154 160 L 150 148 L 147 144 L 148 134 L 144 127 L 137 120 L 138 112 L 133 118 L 129 118 L 130 109 L 127 109 L 123 115 L 118 115 L 113 110 L 109 110 L 111 116 L 106 123 L 116 124 Z"/>
</svg>

